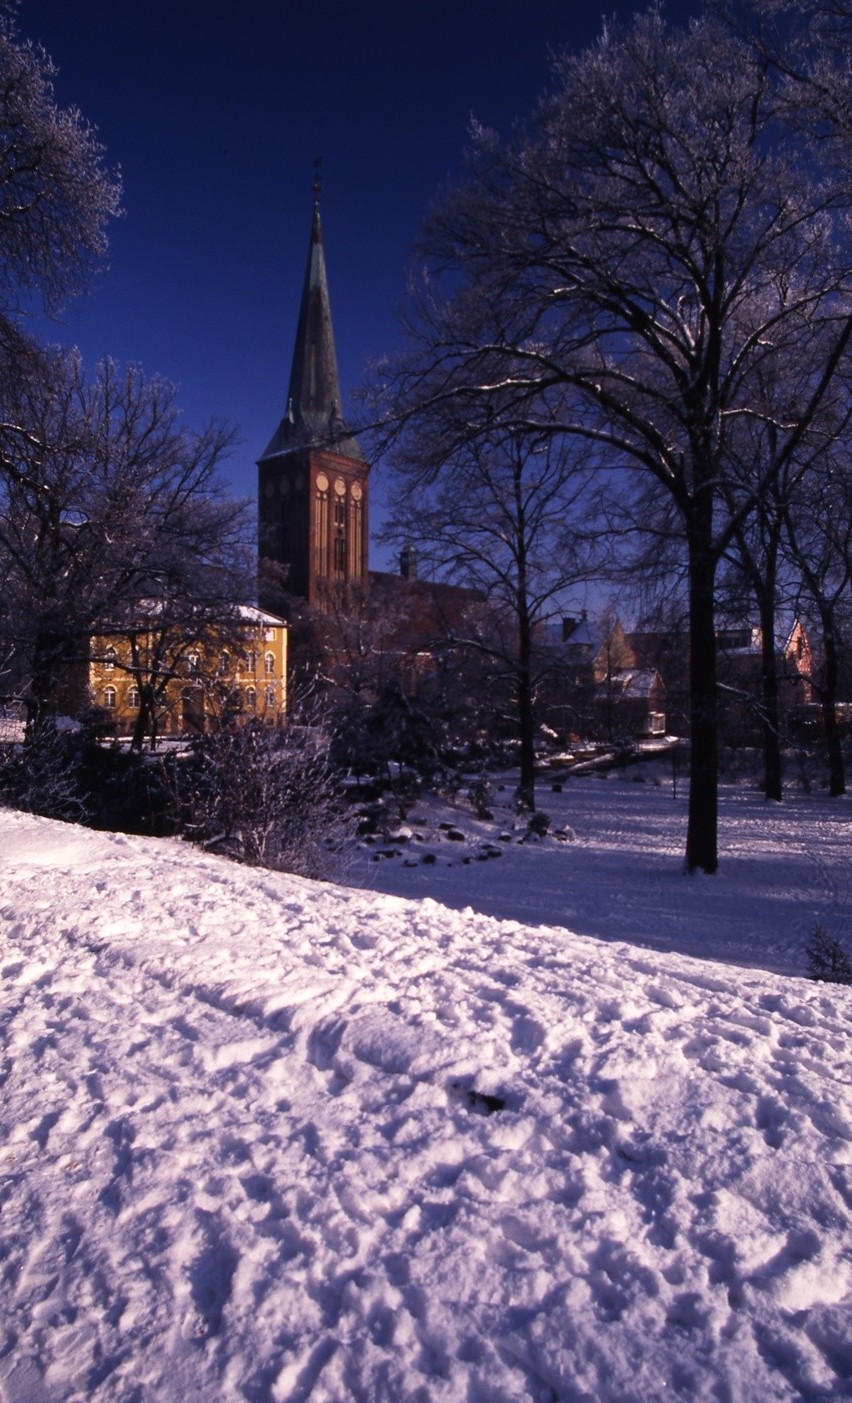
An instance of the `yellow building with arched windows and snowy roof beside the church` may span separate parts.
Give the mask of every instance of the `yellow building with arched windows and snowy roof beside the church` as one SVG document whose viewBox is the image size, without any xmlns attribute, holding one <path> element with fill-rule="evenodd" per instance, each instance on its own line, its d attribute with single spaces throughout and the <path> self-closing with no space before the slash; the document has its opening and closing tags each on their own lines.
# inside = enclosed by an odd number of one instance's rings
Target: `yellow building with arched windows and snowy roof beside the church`
<svg viewBox="0 0 852 1403">
<path fill-rule="evenodd" d="M 152 605 L 133 626 L 93 640 L 90 700 L 114 735 L 139 744 L 250 717 L 281 725 L 286 661 L 286 623 L 277 615 L 241 606 L 226 620 L 187 629 Z"/>
</svg>

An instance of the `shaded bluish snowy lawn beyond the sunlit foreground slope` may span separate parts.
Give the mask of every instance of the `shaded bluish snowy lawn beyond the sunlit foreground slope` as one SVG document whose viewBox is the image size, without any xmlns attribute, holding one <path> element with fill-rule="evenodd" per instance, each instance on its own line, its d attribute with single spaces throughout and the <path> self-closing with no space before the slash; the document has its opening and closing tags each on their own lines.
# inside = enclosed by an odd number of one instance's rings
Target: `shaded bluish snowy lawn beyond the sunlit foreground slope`
<svg viewBox="0 0 852 1403">
<path fill-rule="evenodd" d="M 552 786 L 561 786 L 554 793 Z M 514 784 L 495 790 L 493 822 L 459 800 L 438 811 L 421 800 L 406 843 L 371 842 L 355 880 L 401 897 L 431 895 L 525 925 L 629 940 L 713 960 L 804 974 L 804 946 L 818 922 L 852 953 L 852 803 L 796 788 L 766 804 L 757 787 L 726 786 L 719 824 L 720 871 L 684 875 L 686 783 L 672 794 L 663 762 L 578 779 L 545 779 L 536 801 L 567 843 L 519 842 Z M 453 819 L 465 842 L 439 821 Z M 422 822 L 420 822 L 422 821 Z M 484 857 L 501 852 L 500 859 Z M 394 853 L 393 857 L 379 856 Z M 422 859 L 434 857 L 434 863 Z"/>
</svg>

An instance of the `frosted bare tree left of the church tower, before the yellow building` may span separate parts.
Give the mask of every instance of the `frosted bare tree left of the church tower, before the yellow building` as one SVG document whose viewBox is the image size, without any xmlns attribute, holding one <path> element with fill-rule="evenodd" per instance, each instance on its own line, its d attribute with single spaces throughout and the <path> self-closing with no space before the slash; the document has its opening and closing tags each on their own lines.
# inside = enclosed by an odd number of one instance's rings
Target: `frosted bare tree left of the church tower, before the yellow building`
<svg viewBox="0 0 852 1403">
<path fill-rule="evenodd" d="M 218 476 L 230 431 L 180 427 L 166 382 L 109 361 L 87 376 L 76 354 L 42 352 L 17 394 L 3 390 L 15 425 L 0 427 L 4 627 L 32 734 L 69 706 L 69 678 L 83 685 L 95 633 L 136 631 L 152 600 L 164 629 L 222 620 L 247 589 L 247 519 Z"/>
</svg>

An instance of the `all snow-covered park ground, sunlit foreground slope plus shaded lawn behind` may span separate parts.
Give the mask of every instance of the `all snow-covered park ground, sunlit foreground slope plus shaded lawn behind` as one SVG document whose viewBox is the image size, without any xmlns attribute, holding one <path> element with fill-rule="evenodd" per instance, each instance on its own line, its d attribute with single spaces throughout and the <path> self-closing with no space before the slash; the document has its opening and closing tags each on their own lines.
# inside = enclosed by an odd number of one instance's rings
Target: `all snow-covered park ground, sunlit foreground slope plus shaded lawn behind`
<svg viewBox="0 0 852 1403">
<path fill-rule="evenodd" d="M 849 807 L 542 798 L 417 899 L 0 812 L 4 1403 L 852 1397 Z"/>
</svg>

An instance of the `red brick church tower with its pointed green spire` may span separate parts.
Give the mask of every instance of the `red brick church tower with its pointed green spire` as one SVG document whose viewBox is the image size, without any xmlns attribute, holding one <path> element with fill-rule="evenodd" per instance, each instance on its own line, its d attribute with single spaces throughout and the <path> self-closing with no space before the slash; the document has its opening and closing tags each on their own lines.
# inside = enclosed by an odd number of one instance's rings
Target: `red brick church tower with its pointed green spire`
<svg viewBox="0 0 852 1403">
<path fill-rule="evenodd" d="M 342 421 L 319 182 L 285 415 L 258 460 L 260 602 L 323 607 L 368 581 L 368 473 Z M 284 568 L 282 568 L 284 567 Z"/>
</svg>

